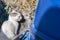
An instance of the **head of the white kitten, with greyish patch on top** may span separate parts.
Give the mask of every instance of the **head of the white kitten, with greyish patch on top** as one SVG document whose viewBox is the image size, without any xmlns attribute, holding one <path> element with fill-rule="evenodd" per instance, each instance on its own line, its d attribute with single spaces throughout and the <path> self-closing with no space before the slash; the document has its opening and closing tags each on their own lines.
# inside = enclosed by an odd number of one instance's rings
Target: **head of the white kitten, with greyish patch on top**
<svg viewBox="0 0 60 40">
<path fill-rule="evenodd" d="M 13 10 L 10 14 L 9 14 L 9 19 L 10 20 L 14 20 L 14 21 L 20 21 L 22 19 L 21 13 L 16 12 L 15 10 Z"/>
</svg>

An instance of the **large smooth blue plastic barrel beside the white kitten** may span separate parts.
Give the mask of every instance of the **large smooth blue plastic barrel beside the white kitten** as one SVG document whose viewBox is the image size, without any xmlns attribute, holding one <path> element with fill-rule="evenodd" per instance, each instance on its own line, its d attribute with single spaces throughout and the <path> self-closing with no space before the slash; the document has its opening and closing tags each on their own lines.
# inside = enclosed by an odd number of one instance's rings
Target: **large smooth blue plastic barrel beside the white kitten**
<svg viewBox="0 0 60 40">
<path fill-rule="evenodd" d="M 30 40 L 60 40 L 60 0 L 39 0 Z"/>
</svg>

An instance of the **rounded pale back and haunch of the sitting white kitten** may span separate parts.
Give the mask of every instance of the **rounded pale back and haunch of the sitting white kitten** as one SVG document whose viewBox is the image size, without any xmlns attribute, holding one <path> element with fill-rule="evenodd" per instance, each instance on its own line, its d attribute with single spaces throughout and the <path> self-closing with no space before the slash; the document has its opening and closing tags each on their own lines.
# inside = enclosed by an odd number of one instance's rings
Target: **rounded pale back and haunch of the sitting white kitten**
<svg viewBox="0 0 60 40">
<path fill-rule="evenodd" d="M 13 38 L 15 36 L 15 27 L 10 21 L 5 21 L 2 24 L 2 32 L 8 37 Z"/>
</svg>

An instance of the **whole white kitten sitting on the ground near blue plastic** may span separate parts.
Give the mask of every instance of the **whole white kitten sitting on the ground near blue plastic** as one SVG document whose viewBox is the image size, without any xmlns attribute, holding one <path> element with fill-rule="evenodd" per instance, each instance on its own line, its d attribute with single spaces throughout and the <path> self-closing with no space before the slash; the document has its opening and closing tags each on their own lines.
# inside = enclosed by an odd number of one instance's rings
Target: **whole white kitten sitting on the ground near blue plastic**
<svg viewBox="0 0 60 40">
<path fill-rule="evenodd" d="M 8 20 L 2 24 L 2 31 L 9 39 L 12 39 L 17 35 L 18 21 L 21 19 L 21 14 L 13 10 L 9 14 Z"/>
</svg>

